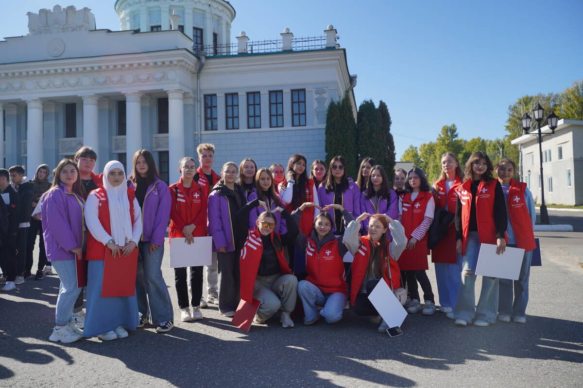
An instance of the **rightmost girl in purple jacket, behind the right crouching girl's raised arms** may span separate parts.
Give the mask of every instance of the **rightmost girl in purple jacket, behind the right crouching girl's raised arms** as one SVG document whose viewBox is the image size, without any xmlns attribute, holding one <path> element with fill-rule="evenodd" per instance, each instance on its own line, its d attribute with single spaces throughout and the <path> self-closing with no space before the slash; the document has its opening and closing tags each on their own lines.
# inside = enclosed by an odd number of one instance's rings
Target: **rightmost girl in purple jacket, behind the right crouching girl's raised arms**
<svg viewBox="0 0 583 388">
<path fill-rule="evenodd" d="M 360 195 L 360 211 L 369 214 L 386 214 L 391 219 L 399 218 L 399 197 L 390 186 L 385 168 L 375 165 L 365 183 L 366 188 Z M 368 234 L 368 222 L 363 222 L 360 232 Z M 387 233 L 387 241 L 392 241 Z"/>
</svg>

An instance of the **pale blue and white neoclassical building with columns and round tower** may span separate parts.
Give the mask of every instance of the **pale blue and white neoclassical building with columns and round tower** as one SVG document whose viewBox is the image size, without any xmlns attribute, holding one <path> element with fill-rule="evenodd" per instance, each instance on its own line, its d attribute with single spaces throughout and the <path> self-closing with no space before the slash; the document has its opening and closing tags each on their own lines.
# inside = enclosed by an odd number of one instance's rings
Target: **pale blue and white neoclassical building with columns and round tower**
<svg viewBox="0 0 583 388">
<path fill-rule="evenodd" d="M 356 76 L 328 26 L 318 37 L 231 42 L 224 0 L 117 0 L 120 31 L 96 30 L 90 9 L 29 12 L 29 34 L 0 41 L 3 166 L 55 166 L 80 145 L 131 163 L 153 151 L 165 179 L 196 145 L 214 143 L 217 169 L 254 158 L 284 164 L 325 155 L 329 102 Z M 356 113 L 356 109 L 355 109 Z"/>
</svg>

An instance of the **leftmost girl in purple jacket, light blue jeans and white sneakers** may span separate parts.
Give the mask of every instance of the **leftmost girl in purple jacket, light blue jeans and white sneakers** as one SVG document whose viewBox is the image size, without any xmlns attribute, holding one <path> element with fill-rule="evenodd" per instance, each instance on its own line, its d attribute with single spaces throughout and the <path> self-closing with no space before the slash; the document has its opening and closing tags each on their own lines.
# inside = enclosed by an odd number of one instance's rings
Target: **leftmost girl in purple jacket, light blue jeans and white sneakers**
<svg viewBox="0 0 583 388">
<path fill-rule="evenodd" d="M 57 271 L 61 285 L 57 297 L 55 327 L 51 341 L 71 343 L 83 335 L 73 326 L 73 305 L 81 292 L 77 284 L 77 261 L 82 259 L 83 243 L 83 190 L 77 165 L 63 159 L 55 170 L 51 188 L 40 200 L 43 218 L 43 237 L 47 260 Z"/>
</svg>

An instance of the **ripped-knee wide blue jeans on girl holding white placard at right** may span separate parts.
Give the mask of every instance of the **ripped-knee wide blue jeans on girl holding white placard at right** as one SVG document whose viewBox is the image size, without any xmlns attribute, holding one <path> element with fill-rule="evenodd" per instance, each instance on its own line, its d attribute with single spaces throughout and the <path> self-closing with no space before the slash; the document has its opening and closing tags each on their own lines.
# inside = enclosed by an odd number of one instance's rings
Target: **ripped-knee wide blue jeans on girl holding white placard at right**
<svg viewBox="0 0 583 388">
<path fill-rule="evenodd" d="M 470 322 L 473 318 L 496 323 L 498 312 L 498 279 L 497 277 L 482 277 L 482 291 L 476 308 L 476 264 L 480 252 L 477 232 L 469 232 L 466 254 L 463 256 L 461 283 L 459 284 L 458 301 L 455 304 L 454 318 Z"/>
</svg>

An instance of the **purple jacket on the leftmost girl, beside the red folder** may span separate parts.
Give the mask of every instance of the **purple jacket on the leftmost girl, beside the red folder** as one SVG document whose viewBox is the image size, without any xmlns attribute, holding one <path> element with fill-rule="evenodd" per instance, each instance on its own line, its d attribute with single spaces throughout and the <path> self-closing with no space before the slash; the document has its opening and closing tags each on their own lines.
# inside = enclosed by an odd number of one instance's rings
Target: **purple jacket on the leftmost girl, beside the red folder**
<svg viewBox="0 0 583 388">
<path fill-rule="evenodd" d="M 80 205 L 79 205 L 80 202 Z M 51 190 L 40 200 L 44 248 L 48 261 L 73 260 L 73 248 L 83 246 L 83 207 L 80 195 L 65 192 L 65 187 Z"/>
</svg>

